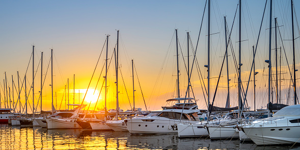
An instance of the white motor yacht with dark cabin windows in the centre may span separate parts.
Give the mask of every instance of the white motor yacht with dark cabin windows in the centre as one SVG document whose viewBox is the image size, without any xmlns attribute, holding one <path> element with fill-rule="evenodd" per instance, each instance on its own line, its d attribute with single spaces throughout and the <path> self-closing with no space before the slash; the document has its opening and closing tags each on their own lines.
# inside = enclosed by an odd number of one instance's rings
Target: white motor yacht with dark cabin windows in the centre
<svg viewBox="0 0 300 150">
<path fill-rule="evenodd" d="M 177 134 L 177 124 L 197 123 L 199 112 L 194 106 L 186 109 L 165 109 L 152 111 L 145 117 L 124 119 L 131 134 Z"/>
</svg>

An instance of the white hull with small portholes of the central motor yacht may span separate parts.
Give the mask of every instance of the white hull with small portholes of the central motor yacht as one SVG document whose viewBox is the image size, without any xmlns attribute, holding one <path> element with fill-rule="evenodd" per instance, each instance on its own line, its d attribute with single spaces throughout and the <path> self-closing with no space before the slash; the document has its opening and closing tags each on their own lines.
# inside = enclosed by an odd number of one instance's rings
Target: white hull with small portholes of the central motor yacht
<svg viewBox="0 0 300 150">
<path fill-rule="evenodd" d="M 197 123 L 197 121 L 191 121 Z M 128 119 L 127 130 L 131 134 L 177 134 L 177 124 L 182 121 L 177 119 Z M 189 123 L 184 121 L 183 123 Z"/>
</svg>

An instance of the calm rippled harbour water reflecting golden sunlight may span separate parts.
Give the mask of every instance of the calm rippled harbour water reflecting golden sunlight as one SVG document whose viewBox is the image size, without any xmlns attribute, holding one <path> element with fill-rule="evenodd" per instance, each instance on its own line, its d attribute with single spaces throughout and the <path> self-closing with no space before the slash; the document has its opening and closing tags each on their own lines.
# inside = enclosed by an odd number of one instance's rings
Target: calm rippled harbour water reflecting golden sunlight
<svg viewBox="0 0 300 150">
<path fill-rule="evenodd" d="M 47 130 L 0 124 L 1 149 L 289 149 L 289 146 L 256 146 L 239 140 L 179 139 L 176 135 L 130 135 L 129 132 Z M 299 145 L 292 149 L 300 149 Z"/>
</svg>

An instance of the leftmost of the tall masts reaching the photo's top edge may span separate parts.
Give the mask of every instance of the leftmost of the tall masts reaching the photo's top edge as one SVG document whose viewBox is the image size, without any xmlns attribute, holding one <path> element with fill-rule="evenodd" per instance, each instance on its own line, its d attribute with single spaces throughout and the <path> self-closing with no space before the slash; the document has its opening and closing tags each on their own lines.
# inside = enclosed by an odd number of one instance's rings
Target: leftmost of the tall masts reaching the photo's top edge
<svg viewBox="0 0 300 150">
<path fill-rule="evenodd" d="M 208 0 L 208 35 L 207 35 L 207 110 L 209 109 L 209 105 L 210 105 L 210 102 L 209 102 L 209 81 L 210 81 L 210 0 Z M 209 116 L 209 112 L 207 114 L 207 116 Z M 209 119 L 209 118 L 207 118 Z"/>
</svg>

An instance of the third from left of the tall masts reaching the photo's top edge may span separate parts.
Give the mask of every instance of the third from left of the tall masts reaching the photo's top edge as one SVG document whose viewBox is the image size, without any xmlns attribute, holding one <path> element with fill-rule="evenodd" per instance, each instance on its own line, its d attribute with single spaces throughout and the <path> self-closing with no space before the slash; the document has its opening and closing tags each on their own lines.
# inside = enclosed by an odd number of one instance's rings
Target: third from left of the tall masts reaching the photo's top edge
<svg viewBox="0 0 300 150">
<path fill-rule="evenodd" d="M 270 92 L 271 92 L 271 70 L 272 70 L 272 65 L 271 65 L 271 36 L 272 34 L 272 0 L 270 0 L 270 26 L 269 26 L 269 80 L 268 80 L 268 103 L 270 103 Z M 270 110 L 268 109 L 268 117 L 270 117 Z"/>
</svg>

